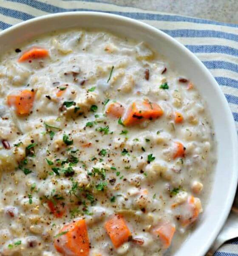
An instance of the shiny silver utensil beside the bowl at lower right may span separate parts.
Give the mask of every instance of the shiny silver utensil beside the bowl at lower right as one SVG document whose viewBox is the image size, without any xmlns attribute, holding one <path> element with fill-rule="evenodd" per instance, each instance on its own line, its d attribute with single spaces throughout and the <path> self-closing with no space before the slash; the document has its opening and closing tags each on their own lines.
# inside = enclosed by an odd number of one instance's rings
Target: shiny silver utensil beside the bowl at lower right
<svg viewBox="0 0 238 256">
<path fill-rule="evenodd" d="M 238 237 L 238 190 L 236 191 L 235 201 L 233 203 L 231 212 L 227 218 L 227 222 L 224 224 L 221 232 L 218 237 L 212 244 L 209 252 L 206 256 L 212 256 L 214 253 L 224 244 L 226 241 L 230 239 L 234 239 Z"/>
</svg>

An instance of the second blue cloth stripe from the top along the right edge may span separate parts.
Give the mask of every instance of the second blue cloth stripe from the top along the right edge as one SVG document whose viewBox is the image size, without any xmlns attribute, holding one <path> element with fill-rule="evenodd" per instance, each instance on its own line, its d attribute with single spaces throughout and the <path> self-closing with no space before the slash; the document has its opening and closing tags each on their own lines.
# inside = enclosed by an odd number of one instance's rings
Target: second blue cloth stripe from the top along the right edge
<svg viewBox="0 0 238 256">
<path fill-rule="evenodd" d="M 172 37 L 224 38 L 224 39 L 238 42 L 238 35 L 221 32 L 221 31 L 215 31 L 215 30 L 197 30 L 197 29 L 175 29 L 175 30 L 161 29 L 161 30 L 171 35 Z"/>
</svg>

